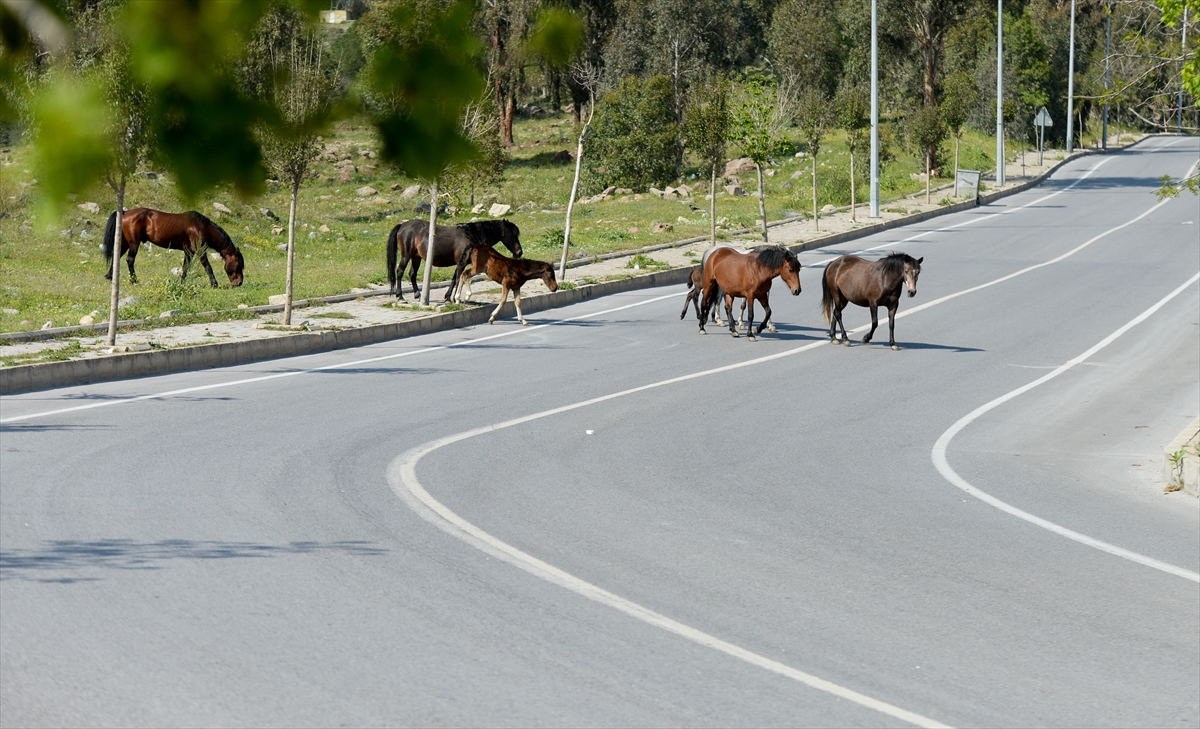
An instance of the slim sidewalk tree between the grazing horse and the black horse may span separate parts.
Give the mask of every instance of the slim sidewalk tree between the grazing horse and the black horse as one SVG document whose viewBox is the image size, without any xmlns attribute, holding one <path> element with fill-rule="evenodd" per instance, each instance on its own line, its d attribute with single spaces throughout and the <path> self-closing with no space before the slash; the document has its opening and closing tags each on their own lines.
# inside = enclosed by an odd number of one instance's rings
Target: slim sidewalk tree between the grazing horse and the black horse
<svg viewBox="0 0 1200 729">
<path fill-rule="evenodd" d="M 258 24 L 242 64 L 250 92 L 270 103 L 278 125 L 262 125 L 264 157 L 290 187 L 288 201 L 288 264 L 283 300 L 283 324 L 292 324 L 295 270 L 296 199 L 308 165 L 320 153 L 317 133 L 329 119 L 336 72 L 322 65 L 322 46 L 306 28 L 300 12 L 277 5 Z"/>
</svg>

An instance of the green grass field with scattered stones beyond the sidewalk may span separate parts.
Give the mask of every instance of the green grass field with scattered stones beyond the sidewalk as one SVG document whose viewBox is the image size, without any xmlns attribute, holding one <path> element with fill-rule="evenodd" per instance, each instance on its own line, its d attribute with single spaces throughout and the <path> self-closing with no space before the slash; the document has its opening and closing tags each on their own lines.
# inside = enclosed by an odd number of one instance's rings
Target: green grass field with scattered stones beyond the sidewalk
<svg viewBox="0 0 1200 729">
<path fill-rule="evenodd" d="M 575 151 L 576 129 L 568 115 L 518 120 L 514 132 L 516 146 L 510 150 L 510 162 L 503 181 L 476 191 L 475 203 L 492 201 L 512 205 L 509 216 L 521 228 L 526 255 L 538 260 L 557 261 L 562 254 L 566 197 L 570 194 L 574 162 L 554 163 L 551 157 L 559 150 Z M 817 204 L 846 205 L 850 203 L 847 176 L 848 155 L 840 134 L 830 134 L 818 158 Z M 326 149 L 344 150 L 352 155 L 358 171 L 349 181 L 338 181 L 335 161 L 322 159 L 313 167 L 317 179 L 307 181 L 300 191 L 296 222 L 295 291 L 296 299 L 312 299 L 344 294 L 355 287 L 386 282 L 384 241 L 397 223 L 415 217 L 414 207 L 421 201 L 402 199 L 401 191 L 413 181 L 365 158 L 360 150 L 377 151 L 378 144 L 371 127 L 362 121 L 343 122 L 325 135 Z M 991 141 L 978 134 L 964 138 L 961 164 L 988 169 Z M 953 156 L 949 146 L 948 156 Z M 736 151 L 736 150 L 734 150 Z M 881 186 L 884 198 L 924 189 L 910 174 L 917 171 L 917 161 L 899 150 L 896 158 L 883 167 Z M 364 165 L 372 165 L 368 169 Z M 865 201 L 866 155 L 856 158 L 860 176 L 857 189 L 859 201 Z M 767 215 L 778 219 L 787 211 L 811 210 L 811 177 L 808 158 L 786 157 L 773 168 L 775 174 L 764 177 Z M 793 174 L 800 174 L 793 179 Z M 947 170 L 952 174 L 952 170 Z M 748 191 L 756 188 L 754 175 L 742 181 Z M 0 150 L 0 308 L 17 313 L 0 313 L 0 332 L 38 329 L 46 321 L 54 326 L 74 325 L 92 311 L 107 317 L 109 284 L 104 279 L 104 259 L 98 249 L 103 225 L 113 209 L 113 194 L 96 185 L 66 207 L 61 219 L 40 219 L 38 186 L 32 185 L 36 170 L 30 168 L 28 146 Z M 689 185 L 707 185 L 708 170 L 686 167 L 684 179 Z M 934 185 L 946 182 L 936 179 Z M 698 185 L 697 185 L 698 183 Z M 370 185 L 377 195 L 359 198 L 355 189 Z M 398 187 L 398 189 L 392 189 Z M 582 191 L 593 194 L 599 191 Z M 708 234 L 708 201 L 697 192 L 691 203 L 662 200 L 648 193 L 620 195 L 613 200 L 576 205 L 571 230 L 571 255 L 594 255 L 628 251 L 656 243 Z M 637 199 L 637 198 L 641 199 Z M 372 201 L 377 198 L 388 200 Z M 101 213 L 86 213 L 77 204 L 95 201 Z M 233 212 L 216 218 L 214 203 L 227 205 Z M 470 200 L 466 195 L 451 200 L 452 210 L 439 222 L 458 223 L 473 218 Z M 529 210 L 517 211 L 532 204 Z M 181 265 L 182 255 L 152 246 L 143 246 L 137 257 L 140 283 L 131 284 L 127 269 L 122 269 L 121 296 L 137 301 L 121 308 L 122 319 L 149 318 L 158 323 L 160 312 L 180 309 L 181 317 L 161 320 L 162 325 L 178 324 L 200 312 L 228 312 L 242 317 L 238 305 L 265 305 L 268 297 L 284 288 L 286 235 L 272 228 L 286 224 L 287 194 L 280 186 L 269 186 L 257 199 L 238 199 L 228 189 L 217 189 L 197 200 L 182 200 L 169 179 L 137 177 L 126 192 L 126 206 L 160 210 L 199 210 L 214 217 L 234 239 L 246 258 L 246 281 L 230 289 L 220 263 L 214 265 L 220 288 L 208 285 L 203 270 L 191 272 L 187 283 L 180 284 L 172 269 Z M 271 219 L 259 212 L 268 207 L 282 218 Z M 726 233 L 749 228 L 758 218 L 758 204 L 752 197 L 719 195 L 718 218 L 727 218 L 719 228 Z M 682 218 L 682 219 L 680 219 Z M 653 233 L 655 223 L 670 223 L 673 230 Z M 328 233 L 318 229 L 325 225 Z M 636 229 L 636 233 L 634 231 Z M 648 267 L 648 266 L 642 266 Z M 436 270 L 433 278 L 449 278 L 450 270 Z"/>
</svg>

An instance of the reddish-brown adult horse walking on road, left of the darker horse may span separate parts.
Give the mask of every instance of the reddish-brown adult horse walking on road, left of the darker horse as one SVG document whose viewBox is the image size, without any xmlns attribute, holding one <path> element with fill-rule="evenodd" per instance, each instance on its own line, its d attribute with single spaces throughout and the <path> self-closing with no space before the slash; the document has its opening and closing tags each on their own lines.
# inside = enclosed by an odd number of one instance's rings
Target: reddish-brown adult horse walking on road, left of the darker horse
<svg viewBox="0 0 1200 729">
<path fill-rule="evenodd" d="M 758 246 L 749 253 L 739 253 L 733 248 L 718 248 L 704 263 L 704 307 L 700 317 L 700 333 L 704 332 L 708 312 L 716 306 L 718 296 L 725 294 L 725 314 L 730 319 L 730 333 L 738 336 L 733 321 L 733 299 L 746 300 L 749 315 L 746 318 L 746 337 L 755 342 L 755 335 L 761 335 L 770 321 L 770 302 L 767 299 L 770 282 L 779 276 L 792 290 L 793 296 L 800 295 L 800 261 L 796 254 L 780 246 Z M 754 302 L 766 309 L 758 330 L 754 329 Z M 775 326 L 769 325 L 770 331 Z"/>
</svg>

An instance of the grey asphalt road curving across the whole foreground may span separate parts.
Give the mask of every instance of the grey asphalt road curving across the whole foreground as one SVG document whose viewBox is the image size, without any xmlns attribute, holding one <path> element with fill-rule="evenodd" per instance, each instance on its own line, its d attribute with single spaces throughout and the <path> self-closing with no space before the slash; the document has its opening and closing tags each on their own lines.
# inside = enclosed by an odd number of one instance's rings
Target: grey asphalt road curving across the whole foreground
<svg viewBox="0 0 1200 729">
<path fill-rule="evenodd" d="M 0 724 L 1200 725 L 1198 153 L 805 253 L 756 343 L 678 287 L 4 398 Z M 824 339 L 868 248 L 899 353 Z"/>
</svg>

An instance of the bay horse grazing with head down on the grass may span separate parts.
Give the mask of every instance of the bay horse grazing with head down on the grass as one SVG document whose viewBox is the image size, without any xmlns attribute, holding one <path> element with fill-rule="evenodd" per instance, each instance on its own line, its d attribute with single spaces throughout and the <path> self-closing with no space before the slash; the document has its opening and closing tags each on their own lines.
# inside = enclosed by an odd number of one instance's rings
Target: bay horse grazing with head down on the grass
<svg viewBox="0 0 1200 729">
<path fill-rule="evenodd" d="M 116 211 L 108 216 L 108 224 L 104 225 L 104 260 L 108 261 L 108 272 L 104 278 L 113 278 L 113 247 L 116 240 Z M 200 263 L 209 275 L 209 283 L 217 288 L 217 278 L 212 275 L 212 266 L 209 257 L 204 254 L 204 248 L 211 248 L 224 259 L 226 276 L 229 277 L 230 287 L 240 287 L 246 269 L 246 259 L 241 251 L 229 240 L 229 234 L 220 225 L 196 212 L 162 212 L 149 207 L 133 207 L 126 210 L 121 216 L 121 252 L 118 254 L 128 255 L 125 263 L 130 266 L 130 281 L 138 282 L 138 275 L 133 270 L 133 259 L 138 255 L 138 247 L 142 243 L 154 243 L 162 248 L 184 252 L 184 276 L 187 278 L 187 269 L 191 266 L 192 257 L 200 254 Z"/>
</svg>

